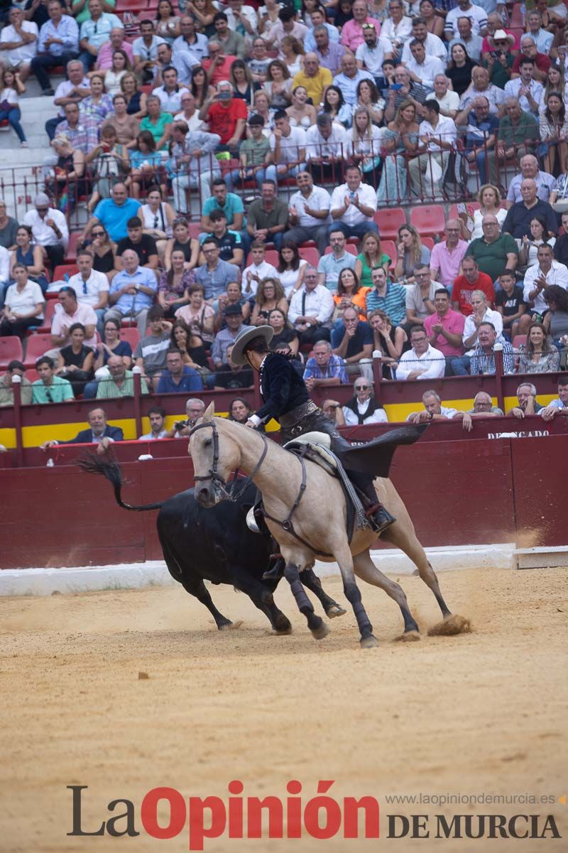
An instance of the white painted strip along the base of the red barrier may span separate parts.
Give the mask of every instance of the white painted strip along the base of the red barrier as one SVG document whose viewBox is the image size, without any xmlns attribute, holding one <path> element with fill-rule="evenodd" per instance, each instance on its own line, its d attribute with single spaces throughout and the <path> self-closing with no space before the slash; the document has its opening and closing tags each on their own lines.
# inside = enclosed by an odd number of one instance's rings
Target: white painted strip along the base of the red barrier
<svg viewBox="0 0 568 853">
<path fill-rule="evenodd" d="M 435 572 L 456 569 L 516 568 L 514 543 L 461 545 L 426 548 Z M 371 552 L 376 566 L 385 574 L 411 574 L 416 566 L 398 550 Z M 320 577 L 338 575 L 336 563 L 317 562 Z M 6 569 L 0 572 L 0 595 L 52 595 L 54 592 L 95 592 L 101 589 L 140 589 L 176 583 L 162 560 L 123 563 L 117 566 L 77 566 L 60 569 Z"/>
</svg>

